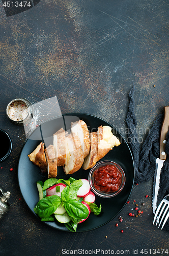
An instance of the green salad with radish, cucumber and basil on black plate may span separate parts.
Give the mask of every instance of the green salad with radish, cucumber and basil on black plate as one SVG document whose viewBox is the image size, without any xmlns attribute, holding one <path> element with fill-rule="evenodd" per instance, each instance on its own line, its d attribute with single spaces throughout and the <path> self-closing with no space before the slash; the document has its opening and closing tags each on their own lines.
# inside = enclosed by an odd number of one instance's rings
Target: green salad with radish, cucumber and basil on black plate
<svg viewBox="0 0 169 256">
<path fill-rule="evenodd" d="M 99 215 L 101 205 L 95 204 L 95 195 L 88 180 L 49 178 L 37 181 L 39 201 L 34 208 L 42 221 L 59 221 L 75 232 L 77 225 L 85 221 L 91 212 Z"/>
</svg>

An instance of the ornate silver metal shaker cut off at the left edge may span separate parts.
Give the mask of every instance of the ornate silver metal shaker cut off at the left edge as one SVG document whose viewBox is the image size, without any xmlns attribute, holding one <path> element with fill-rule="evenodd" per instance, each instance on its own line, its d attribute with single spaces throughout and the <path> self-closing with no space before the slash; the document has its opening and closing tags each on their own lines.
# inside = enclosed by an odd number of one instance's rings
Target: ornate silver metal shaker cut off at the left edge
<svg viewBox="0 0 169 256">
<path fill-rule="evenodd" d="M 0 197 L 0 220 L 1 220 L 10 209 L 10 205 L 7 201 L 10 198 L 11 193 L 9 191 L 5 193 L 1 187 L 0 187 L 0 191 L 2 193 L 2 196 Z"/>
</svg>

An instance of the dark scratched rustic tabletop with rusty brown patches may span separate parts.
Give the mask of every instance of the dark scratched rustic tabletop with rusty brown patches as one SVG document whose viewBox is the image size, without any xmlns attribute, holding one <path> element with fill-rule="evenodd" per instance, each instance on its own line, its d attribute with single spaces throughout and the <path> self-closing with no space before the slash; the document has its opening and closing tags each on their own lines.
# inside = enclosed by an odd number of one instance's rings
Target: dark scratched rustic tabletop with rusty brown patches
<svg viewBox="0 0 169 256">
<path fill-rule="evenodd" d="M 24 130 L 11 124 L 5 112 L 14 98 L 36 103 L 57 96 L 62 113 L 93 114 L 127 137 L 128 92 L 134 81 L 141 143 L 168 105 L 168 11 L 167 0 L 41 0 L 7 17 L 1 3 L 0 128 L 13 142 L 0 168 L 0 186 L 12 193 L 11 210 L 0 221 L 1 256 L 63 255 L 64 248 L 83 249 L 84 254 L 92 249 L 133 254 L 134 249 L 137 255 L 147 248 L 151 255 L 153 249 L 168 248 L 168 233 L 152 225 L 153 178 L 134 185 L 130 203 L 120 213 L 122 223 L 117 216 L 93 231 L 70 233 L 39 222 L 25 205 L 17 181 Z M 138 218 L 128 215 L 136 212 L 133 200 L 144 211 Z"/>
</svg>

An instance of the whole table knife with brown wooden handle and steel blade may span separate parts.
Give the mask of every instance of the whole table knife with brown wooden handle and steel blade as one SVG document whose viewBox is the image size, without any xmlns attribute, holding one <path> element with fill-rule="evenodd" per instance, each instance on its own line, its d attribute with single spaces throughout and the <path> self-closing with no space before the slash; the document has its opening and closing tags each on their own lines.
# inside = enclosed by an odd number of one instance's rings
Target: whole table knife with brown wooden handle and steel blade
<svg viewBox="0 0 169 256">
<path fill-rule="evenodd" d="M 152 199 L 152 207 L 153 207 L 153 214 L 155 214 L 155 210 L 157 208 L 157 196 L 160 184 L 160 173 L 163 163 L 166 159 L 165 153 L 165 144 L 166 144 L 166 134 L 169 128 L 169 106 L 164 106 L 164 118 L 161 125 L 160 131 L 160 155 L 159 158 L 156 159 L 156 169 L 154 174 L 154 183 L 153 183 L 153 199 Z"/>
</svg>

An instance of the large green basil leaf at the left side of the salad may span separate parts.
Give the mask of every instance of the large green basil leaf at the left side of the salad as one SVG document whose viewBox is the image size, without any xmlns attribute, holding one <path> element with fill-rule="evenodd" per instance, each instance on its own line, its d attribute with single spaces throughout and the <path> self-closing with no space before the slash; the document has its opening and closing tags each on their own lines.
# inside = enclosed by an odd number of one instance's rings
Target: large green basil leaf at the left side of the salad
<svg viewBox="0 0 169 256">
<path fill-rule="evenodd" d="M 41 218 L 48 218 L 60 206 L 61 199 L 59 196 L 53 195 L 42 198 L 34 208 L 35 213 Z"/>
</svg>

